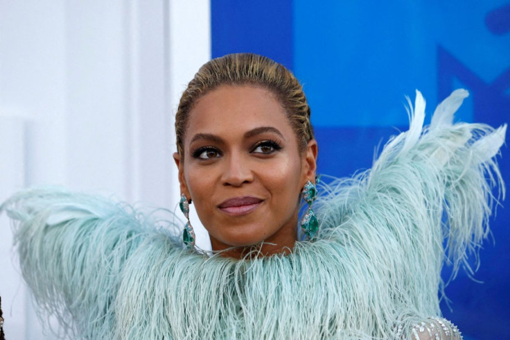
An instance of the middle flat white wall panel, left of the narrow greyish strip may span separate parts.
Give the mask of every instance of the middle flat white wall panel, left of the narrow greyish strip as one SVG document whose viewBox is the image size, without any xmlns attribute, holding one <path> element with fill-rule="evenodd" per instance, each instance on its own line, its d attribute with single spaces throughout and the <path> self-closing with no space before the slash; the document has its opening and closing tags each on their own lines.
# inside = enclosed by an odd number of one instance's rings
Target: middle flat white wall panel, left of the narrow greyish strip
<svg viewBox="0 0 510 340">
<path fill-rule="evenodd" d="M 69 185 L 125 198 L 125 1 L 66 3 Z"/>
</svg>

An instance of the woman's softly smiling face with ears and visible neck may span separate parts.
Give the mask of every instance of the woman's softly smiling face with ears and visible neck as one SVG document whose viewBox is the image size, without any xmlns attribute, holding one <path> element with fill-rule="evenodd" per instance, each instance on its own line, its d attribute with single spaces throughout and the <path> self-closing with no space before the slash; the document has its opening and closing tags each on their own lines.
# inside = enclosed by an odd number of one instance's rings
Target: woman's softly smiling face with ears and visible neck
<svg viewBox="0 0 510 340">
<path fill-rule="evenodd" d="M 299 152 L 285 110 L 269 90 L 222 85 L 189 112 L 181 191 L 191 198 L 213 250 L 274 244 L 292 248 L 299 194 L 315 178 L 317 144 Z"/>
</svg>

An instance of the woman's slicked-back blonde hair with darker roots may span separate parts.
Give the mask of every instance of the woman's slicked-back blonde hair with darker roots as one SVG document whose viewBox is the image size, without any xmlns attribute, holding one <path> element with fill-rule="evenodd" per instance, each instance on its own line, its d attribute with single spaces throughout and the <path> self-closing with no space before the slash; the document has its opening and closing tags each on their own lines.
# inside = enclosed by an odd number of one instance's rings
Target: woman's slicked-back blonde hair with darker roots
<svg viewBox="0 0 510 340">
<path fill-rule="evenodd" d="M 197 99 L 220 85 L 254 85 L 276 95 L 288 114 L 290 125 L 297 135 L 299 150 L 303 152 L 314 138 L 310 124 L 310 107 L 303 87 L 292 72 L 274 60 L 253 53 L 234 53 L 206 62 L 181 96 L 175 114 L 177 152 L 184 156 L 184 133 L 188 115 Z"/>
</svg>

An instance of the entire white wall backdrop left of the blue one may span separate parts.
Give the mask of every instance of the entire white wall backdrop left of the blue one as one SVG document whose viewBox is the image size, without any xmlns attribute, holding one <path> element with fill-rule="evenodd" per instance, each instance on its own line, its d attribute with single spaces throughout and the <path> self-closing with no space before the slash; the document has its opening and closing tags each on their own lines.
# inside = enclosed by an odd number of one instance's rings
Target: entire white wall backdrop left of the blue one
<svg viewBox="0 0 510 340">
<path fill-rule="evenodd" d="M 208 0 L 0 0 L 0 201 L 51 184 L 175 210 L 173 115 L 209 58 Z M 0 273 L 6 339 L 54 339 L 4 215 Z"/>
</svg>

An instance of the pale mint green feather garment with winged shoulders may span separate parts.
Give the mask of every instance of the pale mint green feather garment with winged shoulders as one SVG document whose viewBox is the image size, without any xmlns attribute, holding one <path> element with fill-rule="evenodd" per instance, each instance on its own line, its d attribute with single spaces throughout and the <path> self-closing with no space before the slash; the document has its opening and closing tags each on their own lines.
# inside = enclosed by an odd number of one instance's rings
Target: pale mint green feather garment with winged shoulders
<svg viewBox="0 0 510 340">
<path fill-rule="evenodd" d="M 452 278 L 473 273 L 492 187 L 504 194 L 494 156 L 506 126 L 452 124 L 466 96 L 453 92 L 424 128 L 416 92 L 410 130 L 369 171 L 323 185 L 317 241 L 286 256 L 190 252 L 172 214 L 156 221 L 96 196 L 13 196 L 3 208 L 42 318 L 86 339 L 392 339 L 398 327 L 411 337 L 441 313 L 443 264 Z"/>
</svg>

